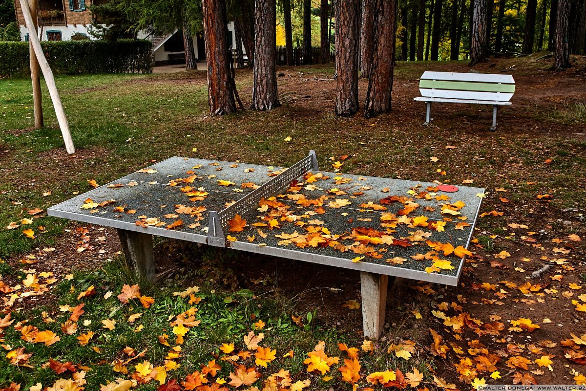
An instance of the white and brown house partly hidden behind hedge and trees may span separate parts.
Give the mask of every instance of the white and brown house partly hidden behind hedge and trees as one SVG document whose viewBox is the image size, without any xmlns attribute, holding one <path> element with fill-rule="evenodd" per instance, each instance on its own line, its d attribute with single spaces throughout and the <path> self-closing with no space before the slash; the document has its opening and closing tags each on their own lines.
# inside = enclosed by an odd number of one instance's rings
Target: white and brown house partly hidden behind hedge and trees
<svg viewBox="0 0 586 391">
<path fill-rule="evenodd" d="M 107 0 L 37 0 L 39 18 L 40 40 L 70 40 L 73 33 L 81 33 L 88 38 L 93 37 L 88 33 L 93 15 L 90 5 L 100 5 Z M 28 30 L 25 26 L 25 18 L 22 15 L 21 4 L 14 0 L 16 22 L 21 32 L 21 39 L 28 41 Z M 99 21 L 98 21 L 99 22 Z M 155 65 L 185 63 L 185 51 L 183 50 L 182 32 L 175 31 L 165 36 L 154 36 L 148 33 L 139 33 L 138 38 L 149 39 L 153 43 L 153 57 Z M 234 46 L 234 23 L 228 24 L 228 46 Z M 205 61 L 206 45 L 203 34 L 193 38 L 193 49 L 197 60 Z M 246 52 L 243 46 L 243 53 Z"/>
</svg>

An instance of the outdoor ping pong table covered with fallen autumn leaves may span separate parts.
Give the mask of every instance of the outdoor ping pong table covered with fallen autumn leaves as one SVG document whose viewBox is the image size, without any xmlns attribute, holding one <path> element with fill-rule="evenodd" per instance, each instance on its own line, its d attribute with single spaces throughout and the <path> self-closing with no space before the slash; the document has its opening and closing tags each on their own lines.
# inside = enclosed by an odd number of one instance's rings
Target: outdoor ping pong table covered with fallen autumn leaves
<svg viewBox="0 0 586 391">
<path fill-rule="evenodd" d="M 483 192 L 323 172 L 314 151 L 288 169 L 173 157 L 47 213 L 114 227 L 151 279 L 152 235 L 358 270 L 364 335 L 378 338 L 389 277 L 458 284 Z"/>
</svg>

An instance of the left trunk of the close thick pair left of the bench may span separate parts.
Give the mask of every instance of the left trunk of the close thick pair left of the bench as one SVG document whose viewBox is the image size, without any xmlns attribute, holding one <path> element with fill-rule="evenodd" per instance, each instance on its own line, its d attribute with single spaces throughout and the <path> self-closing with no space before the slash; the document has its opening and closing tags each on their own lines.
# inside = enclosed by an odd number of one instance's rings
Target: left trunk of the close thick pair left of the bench
<svg viewBox="0 0 586 391">
<path fill-rule="evenodd" d="M 360 0 L 336 1 L 336 115 L 358 111 L 358 29 Z"/>
</svg>

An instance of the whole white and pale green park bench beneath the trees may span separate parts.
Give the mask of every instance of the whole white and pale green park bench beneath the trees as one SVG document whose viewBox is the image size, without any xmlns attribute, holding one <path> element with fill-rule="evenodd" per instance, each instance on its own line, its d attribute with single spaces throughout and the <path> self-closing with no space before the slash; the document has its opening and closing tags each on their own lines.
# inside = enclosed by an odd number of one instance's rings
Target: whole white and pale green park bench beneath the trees
<svg viewBox="0 0 586 391">
<path fill-rule="evenodd" d="M 496 111 L 499 106 L 511 104 L 515 80 L 510 74 L 424 72 L 419 81 L 420 97 L 414 100 L 427 103 L 424 125 L 430 124 L 431 103 L 492 104 L 492 127 L 496 130 Z"/>
</svg>

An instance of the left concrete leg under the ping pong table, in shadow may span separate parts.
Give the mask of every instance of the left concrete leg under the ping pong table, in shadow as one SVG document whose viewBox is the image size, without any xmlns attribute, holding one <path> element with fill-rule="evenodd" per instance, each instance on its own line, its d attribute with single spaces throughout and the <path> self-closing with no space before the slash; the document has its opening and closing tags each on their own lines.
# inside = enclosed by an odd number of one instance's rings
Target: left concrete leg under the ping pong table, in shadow
<svg viewBox="0 0 586 391">
<path fill-rule="evenodd" d="M 155 258 L 152 252 L 152 235 L 118 229 L 122 251 L 130 270 L 148 281 L 155 279 Z"/>
</svg>

